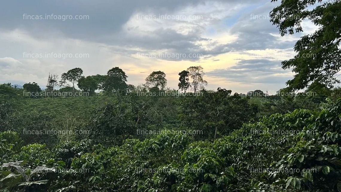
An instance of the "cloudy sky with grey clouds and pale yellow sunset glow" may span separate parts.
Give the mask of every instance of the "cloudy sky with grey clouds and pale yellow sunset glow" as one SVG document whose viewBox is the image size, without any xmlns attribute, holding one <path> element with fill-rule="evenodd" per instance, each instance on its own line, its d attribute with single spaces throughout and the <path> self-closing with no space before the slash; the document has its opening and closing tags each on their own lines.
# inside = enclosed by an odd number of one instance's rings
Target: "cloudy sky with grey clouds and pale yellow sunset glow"
<svg viewBox="0 0 341 192">
<path fill-rule="evenodd" d="M 161 70 L 167 86 L 177 88 L 180 71 L 201 65 L 208 89 L 276 92 L 293 75 L 281 69 L 281 61 L 293 57 L 300 36 L 315 30 L 307 21 L 304 33 L 280 37 L 268 19 L 277 5 L 270 0 L 4 1 L 0 83 L 45 87 L 49 73 L 60 76 L 80 67 L 88 76 L 118 66 L 129 84 L 144 83 Z"/>
</svg>

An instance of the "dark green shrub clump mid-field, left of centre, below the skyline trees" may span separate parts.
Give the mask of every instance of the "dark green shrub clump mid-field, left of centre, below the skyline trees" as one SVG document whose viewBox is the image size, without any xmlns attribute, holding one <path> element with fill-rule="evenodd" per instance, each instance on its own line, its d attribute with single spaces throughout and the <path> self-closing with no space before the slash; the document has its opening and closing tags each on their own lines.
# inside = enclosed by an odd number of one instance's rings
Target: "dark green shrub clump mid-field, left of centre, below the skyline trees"
<svg viewBox="0 0 341 192">
<path fill-rule="evenodd" d="M 138 128 L 159 119 L 159 113 L 152 108 L 151 102 L 132 101 L 131 105 L 127 105 L 123 101 L 106 105 L 92 117 L 90 138 L 103 145 L 120 145 L 123 140 L 136 137 Z"/>
</svg>

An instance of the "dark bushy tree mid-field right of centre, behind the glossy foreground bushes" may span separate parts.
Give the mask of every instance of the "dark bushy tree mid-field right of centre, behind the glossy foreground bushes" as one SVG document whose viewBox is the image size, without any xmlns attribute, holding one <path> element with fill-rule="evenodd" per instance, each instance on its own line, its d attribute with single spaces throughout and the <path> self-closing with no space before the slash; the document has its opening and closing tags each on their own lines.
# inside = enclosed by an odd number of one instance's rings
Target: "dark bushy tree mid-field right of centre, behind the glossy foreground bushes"
<svg viewBox="0 0 341 192">
<path fill-rule="evenodd" d="M 252 120 L 248 99 L 239 94 L 231 96 L 231 90 L 218 88 L 217 92 L 203 91 L 203 96 L 182 102 L 181 120 L 186 126 L 203 130 L 206 138 L 226 135 L 243 123 Z"/>
</svg>

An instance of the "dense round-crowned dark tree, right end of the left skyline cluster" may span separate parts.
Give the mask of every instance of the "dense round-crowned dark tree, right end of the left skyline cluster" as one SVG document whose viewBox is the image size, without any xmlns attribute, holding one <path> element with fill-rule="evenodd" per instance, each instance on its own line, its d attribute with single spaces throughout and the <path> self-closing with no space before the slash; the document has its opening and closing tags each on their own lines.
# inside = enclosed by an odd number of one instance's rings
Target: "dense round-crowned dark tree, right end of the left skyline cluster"
<svg viewBox="0 0 341 192">
<path fill-rule="evenodd" d="M 127 77 L 125 72 L 119 67 L 114 67 L 107 72 L 107 77 L 103 84 L 103 90 L 112 93 L 119 91 L 126 91 Z"/>
</svg>

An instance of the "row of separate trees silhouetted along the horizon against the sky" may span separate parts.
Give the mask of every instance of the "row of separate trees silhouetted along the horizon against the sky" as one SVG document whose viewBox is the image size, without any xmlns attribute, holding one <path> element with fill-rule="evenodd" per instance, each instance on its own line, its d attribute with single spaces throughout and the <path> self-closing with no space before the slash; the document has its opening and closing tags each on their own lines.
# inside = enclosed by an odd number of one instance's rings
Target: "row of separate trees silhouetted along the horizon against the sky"
<svg viewBox="0 0 341 192">
<path fill-rule="evenodd" d="M 183 70 L 179 73 L 178 90 L 183 92 L 192 91 L 195 93 L 202 90 L 207 81 L 203 79 L 205 72 L 201 66 L 189 67 L 187 70 Z M 63 74 L 61 78 L 57 74 L 49 74 L 45 92 L 76 92 L 75 85 L 82 92 L 87 92 L 89 96 L 95 95 L 96 92 L 102 92 L 105 94 L 121 94 L 125 95 L 133 91 L 147 92 L 152 90 L 153 92 L 165 91 L 167 89 L 166 74 L 163 71 L 153 71 L 146 77 L 146 82 L 134 86 L 127 84 L 128 76 L 119 67 L 114 67 L 108 70 L 106 75 L 92 75 L 83 76 L 83 70 L 81 68 L 71 69 Z M 191 79 L 191 81 L 190 81 Z M 70 85 L 71 84 L 71 85 Z M 59 90 L 55 90 L 56 87 L 61 87 Z M 28 93 L 42 92 L 41 87 L 33 82 L 25 83 L 23 88 Z M 39 95 L 39 94 L 38 94 Z M 32 95 L 32 98 L 36 98 L 36 95 Z"/>
</svg>

